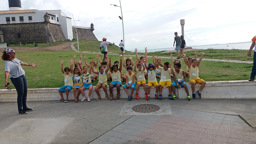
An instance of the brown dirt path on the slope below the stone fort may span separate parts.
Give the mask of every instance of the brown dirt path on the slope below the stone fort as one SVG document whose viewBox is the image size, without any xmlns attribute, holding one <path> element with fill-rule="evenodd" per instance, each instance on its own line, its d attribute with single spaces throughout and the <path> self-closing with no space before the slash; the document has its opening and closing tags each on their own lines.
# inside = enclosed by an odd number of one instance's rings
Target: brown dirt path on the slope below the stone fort
<svg viewBox="0 0 256 144">
<path fill-rule="evenodd" d="M 67 42 L 58 44 L 55 46 L 45 46 L 45 47 L 10 47 L 8 48 L 13 49 L 15 52 L 41 52 L 41 51 L 70 51 L 72 48 L 70 44 L 73 42 Z"/>
</svg>

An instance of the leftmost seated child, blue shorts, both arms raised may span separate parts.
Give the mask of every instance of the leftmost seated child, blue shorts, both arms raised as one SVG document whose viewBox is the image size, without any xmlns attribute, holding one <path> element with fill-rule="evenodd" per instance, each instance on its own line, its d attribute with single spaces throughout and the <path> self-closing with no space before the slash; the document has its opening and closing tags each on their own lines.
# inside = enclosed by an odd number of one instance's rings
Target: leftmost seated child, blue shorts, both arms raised
<svg viewBox="0 0 256 144">
<path fill-rule="evenodd" d="M 61 60 L 60 64 L 61 64 L 61 72 L 62 72 L 62 75 L 64 76 L 65 85 L 62 86 L 61 88 L 59 88 L 59 93 L 60 93 L 61 99 L 58 100 L 58 102 L 62 102 L 62 101 L 68 102 L 68 93 L 73 88 L 73 81 L 72 81 L 73 60 L 70 60 L 70 68 L 66 67 L 66 68 L 64 68 L 64 71 L 63 71 L 63 61 L 62 60 Z M 66 100 L 64 100 L 64 98 L 63 98 L 64 92 L 66 92 Z"/>
</svg>

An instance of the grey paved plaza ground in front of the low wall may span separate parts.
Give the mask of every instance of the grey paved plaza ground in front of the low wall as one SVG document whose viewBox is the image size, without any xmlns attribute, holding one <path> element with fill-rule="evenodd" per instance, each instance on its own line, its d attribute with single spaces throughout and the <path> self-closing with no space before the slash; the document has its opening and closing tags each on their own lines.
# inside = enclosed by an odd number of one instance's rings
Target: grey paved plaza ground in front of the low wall
<svg viewBox="0 0 256 144">
<path fill-rule="evenodd" d="M 1 102 L 0 144 L 255 144 L 256 132 L 250 126 L 256 121 L 255 102 L 29 101 L 34 111 L 26 115 L 18 114 L 16 102 Z M 134 109 L 140 105 L 148 106 L 149 113 L 142 107 Z M 253 117 L 248 124 L 247 117 Z"/>
</svg>

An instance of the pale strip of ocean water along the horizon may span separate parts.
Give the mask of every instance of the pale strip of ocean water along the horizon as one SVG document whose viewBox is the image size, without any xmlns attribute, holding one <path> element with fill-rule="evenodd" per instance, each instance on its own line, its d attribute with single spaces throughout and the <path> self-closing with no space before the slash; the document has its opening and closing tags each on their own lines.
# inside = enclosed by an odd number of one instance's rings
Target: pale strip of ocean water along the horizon
<svg viewBox="0 0 256 144">
<path fill-rule="evenodd" d="M 244 44 L 220 44 L 220 45 L 202 45 L 202 46 L 192 46 L 192 49 L 240 49 L 249 50 L 252 43 Z M 228 45 L 228 46 L 227 46 Z M 188 45 L 189 46 L 189 45 Z M 158 51 L 170 51 L 175 50 L 172 48 L 162 48 L 162 49 L 148 49 L 148 52 L 158 52 Z M 145 50 L 138 50 L 138 52 L 145 52 Z"/>
</svg>

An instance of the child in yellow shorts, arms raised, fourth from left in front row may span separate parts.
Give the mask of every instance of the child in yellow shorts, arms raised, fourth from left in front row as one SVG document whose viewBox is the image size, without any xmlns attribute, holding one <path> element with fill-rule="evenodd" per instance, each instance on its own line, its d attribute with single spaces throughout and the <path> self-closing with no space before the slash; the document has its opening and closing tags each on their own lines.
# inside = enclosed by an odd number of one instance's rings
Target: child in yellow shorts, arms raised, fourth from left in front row
<svg viewBox="0 0 256 144">
<path fill-rule="evenodd" d="M 106 62 L 107 62 L 107 65 L 108 65 L 108 54 L 106 54 Z M 94 62 L 94 60 L 92 60 L 92 63 Z M 109 66 L 106 68 L 106 71 L 108 71 L 108 68 Z M 100 100 L 101 97 L 100 97 L 100 92 L 99 92 L 99 89 L 102 87 L 103 91 L 105 92 L 105 96 L 106 96 L 106 100 L 108 100 L 108 93 L 107 93 L 107 74 L 103 68 L 103 66 L 100 66 L 99 67 L 99 71 L 100 72 L 96 72 L 94 71 L 94 69 L 92 68 L 92 72 L 97 74 L 98 77 L 99 77 L 99 82 L 98 84 L 96 85 L 95 87 L 95 92 L 97 93 L 98 95 L 98 98 L 96 100 Z"/>
</svg>

